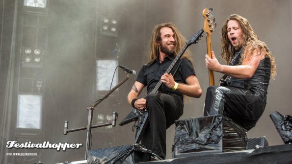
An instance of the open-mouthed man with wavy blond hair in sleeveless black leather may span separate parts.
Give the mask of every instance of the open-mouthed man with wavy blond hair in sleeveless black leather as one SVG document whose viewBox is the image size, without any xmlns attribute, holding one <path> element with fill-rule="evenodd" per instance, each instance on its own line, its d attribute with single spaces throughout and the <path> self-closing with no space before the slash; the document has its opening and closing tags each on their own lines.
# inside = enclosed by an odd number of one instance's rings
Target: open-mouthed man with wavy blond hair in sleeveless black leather
<svg viewBox="0 0 292 164">
<path fill-rule="evenodd" d="M 221 32 L 221 56 L 228 65 L 219 64 L 213 52 L 205 61 L 208 69 L 225 74 L 225 80 L 220 87 L 208 88 L 204 116 L 221 114 L 250 130 L 265 110 L 269 80 L 276 75 L 275 60 L 245 18 L 229 16 Z"/>
</svg>

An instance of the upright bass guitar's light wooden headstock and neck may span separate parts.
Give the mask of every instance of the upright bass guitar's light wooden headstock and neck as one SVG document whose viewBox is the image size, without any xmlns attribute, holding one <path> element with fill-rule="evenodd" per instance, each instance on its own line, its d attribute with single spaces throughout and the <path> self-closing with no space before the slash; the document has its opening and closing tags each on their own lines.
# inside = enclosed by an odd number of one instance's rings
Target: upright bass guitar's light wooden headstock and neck
<svg viewBox="0 0 292 164">
<path fill-rule="evenodd" d="M 203 10 L 203 17 L 204 17 L 204 31 L 207 33 L 206 40 L 207 40 L 207 53 L 210 58 L 212 58 L 212 47 L 211 47 L 211 35 L 216 27 L 215 18 L 213 14 L 213 9 L 204 9 Z M 209 86 L 214 86 L 214 72 L 209 70 Z"/>
</svg>

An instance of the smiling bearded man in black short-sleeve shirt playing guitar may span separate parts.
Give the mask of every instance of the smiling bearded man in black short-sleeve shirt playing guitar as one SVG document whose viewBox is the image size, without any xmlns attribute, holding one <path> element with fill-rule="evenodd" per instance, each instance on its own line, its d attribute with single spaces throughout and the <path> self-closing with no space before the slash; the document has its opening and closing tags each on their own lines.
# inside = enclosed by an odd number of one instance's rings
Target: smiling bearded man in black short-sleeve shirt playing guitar
<svg viewBox="0 0 292 164">
<path fill-rule="evenodd" d="M 165 159 L 166 154 L 166 129 L 183 115 L 183 95 L 198 98 L 202 94 L 193 65 L 187 56 L 188 51 L 181 57 L 175 74 L 164 73 L 185 41 L 173 23 L 156 25 L 150 40 L 148 64 L 142 66 L 128 94 L 128 102 L 133 108 L 146 108 L 149 113 L 149 124 L 143 133 L 141 144 L 161 159 Z M 163 83 L 159 93 L 150 94 L 159 80 Z M 138 98 L 146 86 L 148 95 Z"/>
</svg>

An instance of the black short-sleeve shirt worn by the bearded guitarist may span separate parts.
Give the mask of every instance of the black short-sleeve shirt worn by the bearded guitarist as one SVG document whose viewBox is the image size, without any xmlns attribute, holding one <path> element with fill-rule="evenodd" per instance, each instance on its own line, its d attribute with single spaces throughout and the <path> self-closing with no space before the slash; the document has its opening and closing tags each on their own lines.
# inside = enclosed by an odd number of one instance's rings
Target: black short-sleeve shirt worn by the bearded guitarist
<svg viewBox="0 0 292 164">
<path fill-rule="evenodd" d="M 167 56 L 161 63 L 158 59 L 156 59 L 152 64 L 144 65 L 139 71 L 136 81 L 142 83 L 144 86 L 147 86 L 147 93 L 150 94 L 151 91 L 155 88 L 156 84 L 159 82 L 161 76 L 165 73 L 165 71 L 172 63 L 173 59 L 173 56 Z M 189 60 L 187 60 L 186 58 L 181 60 L 182 62 L 174 75 L 174 80 L 177 83 L 186 84 L 186 78 L 192 74 L 195 75 L 195 71 Z M 159 88 L 159 92 L 165 94 L 176 94 L 179 95 L 182 100 L 184 99 L 183 94 L 167 88 L 164 84 Z"/>
</svg>

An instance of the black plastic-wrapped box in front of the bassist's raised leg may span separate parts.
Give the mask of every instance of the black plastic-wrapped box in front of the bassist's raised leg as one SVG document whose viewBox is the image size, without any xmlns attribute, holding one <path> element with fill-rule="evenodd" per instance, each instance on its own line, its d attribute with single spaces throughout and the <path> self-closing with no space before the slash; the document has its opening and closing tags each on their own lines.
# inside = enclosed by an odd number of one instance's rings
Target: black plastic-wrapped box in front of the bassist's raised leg
<svg viewBox="0 0 292 164">
<path fill-rule="evenodd" d="M 175 122 L 173 158 L 246 150 L 246 130 L 222 115 Z"/>
</svg>

